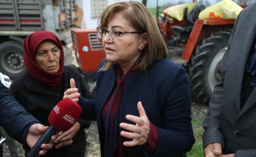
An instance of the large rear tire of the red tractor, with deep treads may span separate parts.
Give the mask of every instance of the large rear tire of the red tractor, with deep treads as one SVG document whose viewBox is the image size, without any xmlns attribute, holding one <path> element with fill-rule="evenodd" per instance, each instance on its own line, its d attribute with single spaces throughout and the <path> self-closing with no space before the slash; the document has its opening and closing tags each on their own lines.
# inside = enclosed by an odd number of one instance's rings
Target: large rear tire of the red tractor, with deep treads
<svg viewBox="0 0 256 157">
<path fill-rule="evenodd" d="M 218 83 L 217 72 L 227 49 L 231 30 L 214 32 L 197 46 L 188 64 L 191 95 L 195 101 L 208 104 L 214 86 Z"/>
</svg>

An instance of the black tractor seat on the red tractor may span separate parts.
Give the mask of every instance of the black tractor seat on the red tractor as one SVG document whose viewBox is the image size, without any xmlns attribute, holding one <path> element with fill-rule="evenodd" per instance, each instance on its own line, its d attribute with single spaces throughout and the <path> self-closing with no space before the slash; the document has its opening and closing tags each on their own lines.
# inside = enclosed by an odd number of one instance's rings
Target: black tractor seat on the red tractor
<svg viewBox="0 0 256 157">
<path fill-rule="evenodd" d="M 203 5 L 195 6 L 187 15 L 187 17 L 184 18 L 186 20 L 186 24 L 181 26 L 172 26 L 171 30 L 179 33 L 191 31 L 196 22 L 196 19 L 198 19 L 198 15 L 200 11 L 202 11 L 203 9 L 205 9 Z M 184 15 L 186 15 L 186 12 L 187 12 L 187 8 L 184 10 Z"/>
</svg>

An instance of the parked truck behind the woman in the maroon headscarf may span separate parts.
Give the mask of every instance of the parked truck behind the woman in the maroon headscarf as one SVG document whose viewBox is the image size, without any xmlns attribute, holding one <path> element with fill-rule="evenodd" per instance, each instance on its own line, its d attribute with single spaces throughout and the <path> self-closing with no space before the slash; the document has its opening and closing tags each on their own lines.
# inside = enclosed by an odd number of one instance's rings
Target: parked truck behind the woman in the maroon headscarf
<svg viewBox="0 0 256 157">
<path fill-rule="evenodd" d="M 24 73 L 22 44 L 35 31 L 53 32 L 70 54 L 75 11 L 75 0 L 0 0 L 0 72 L 11 80 Z"/>
</svg>

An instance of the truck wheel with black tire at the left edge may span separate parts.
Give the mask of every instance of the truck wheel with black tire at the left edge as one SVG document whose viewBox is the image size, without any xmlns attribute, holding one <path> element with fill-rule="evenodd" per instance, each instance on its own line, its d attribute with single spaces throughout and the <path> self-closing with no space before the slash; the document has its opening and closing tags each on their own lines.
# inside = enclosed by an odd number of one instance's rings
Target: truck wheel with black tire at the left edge
<svg viewBox="0 0 256 157">
<path fill-rule="evenodd" d="M 8 41 L 0 44 L 0 71 L 16 79 L 25 72 L 22 44 Z"/>
</svg>

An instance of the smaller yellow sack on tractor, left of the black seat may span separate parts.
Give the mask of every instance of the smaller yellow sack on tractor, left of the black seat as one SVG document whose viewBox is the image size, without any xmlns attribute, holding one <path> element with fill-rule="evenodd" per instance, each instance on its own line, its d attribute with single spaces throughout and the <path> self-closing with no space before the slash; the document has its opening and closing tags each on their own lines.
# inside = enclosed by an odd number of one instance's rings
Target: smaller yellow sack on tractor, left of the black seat
<svg viewBox="0 0 256 157">
<path fill-rule="evenodd" d="M 187 7 L 187 14 L 194 8 L 196 3 L 184 3 L 166 8 L 163 12 L 177 19 L 178 21 L 183 20 L 184 9 Z M 164 14 L 161 14 L 164 17 Z M 168 16 L 166 16 L 168 18 Z"/>
</svg>

